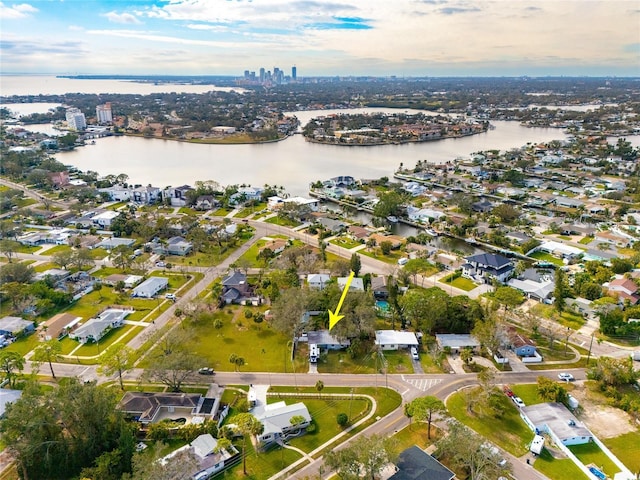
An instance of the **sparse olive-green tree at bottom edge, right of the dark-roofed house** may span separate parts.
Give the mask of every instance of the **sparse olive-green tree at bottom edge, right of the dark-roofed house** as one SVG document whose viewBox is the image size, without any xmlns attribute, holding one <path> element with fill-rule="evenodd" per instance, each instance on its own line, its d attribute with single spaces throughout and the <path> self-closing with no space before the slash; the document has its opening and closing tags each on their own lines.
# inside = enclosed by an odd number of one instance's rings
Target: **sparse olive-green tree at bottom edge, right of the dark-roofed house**
<svg viewBox="0 0 640 480">
<path fill-rule="evenodd" d="M 484 439 L 456 420 L 450 420 L 449 434 L 437 443 L 438 452 L 450 459 L 455 469 L 463 470 L 469 480 L 483 480 L 507 475 L 508 465 L 500 465 L 499 453 Z"/>
</svg>

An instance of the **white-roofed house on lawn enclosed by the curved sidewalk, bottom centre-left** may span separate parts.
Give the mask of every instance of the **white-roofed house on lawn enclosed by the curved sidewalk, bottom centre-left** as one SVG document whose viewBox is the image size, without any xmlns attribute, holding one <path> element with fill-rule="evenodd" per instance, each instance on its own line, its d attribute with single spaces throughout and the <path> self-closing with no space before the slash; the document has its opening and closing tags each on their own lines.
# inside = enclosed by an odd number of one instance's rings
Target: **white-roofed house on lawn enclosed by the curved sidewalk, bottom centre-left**
<svg viewBox="0 0 640 480">
<path fill-rule="evenodd" d="M 259 405 L 251 412 L 264 426 L 264 430 L 258 435 L 258 442 L 266 445 L 286 441 L 304 433 L 304 429 L 311 424 L 311 415 L 306 405 L 302 402 L 287 405 L 284 401 Z M 302 417 L 302 423 L 292 425 L 293 417 Z"/>
</svg>

